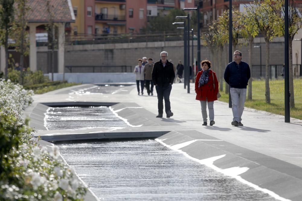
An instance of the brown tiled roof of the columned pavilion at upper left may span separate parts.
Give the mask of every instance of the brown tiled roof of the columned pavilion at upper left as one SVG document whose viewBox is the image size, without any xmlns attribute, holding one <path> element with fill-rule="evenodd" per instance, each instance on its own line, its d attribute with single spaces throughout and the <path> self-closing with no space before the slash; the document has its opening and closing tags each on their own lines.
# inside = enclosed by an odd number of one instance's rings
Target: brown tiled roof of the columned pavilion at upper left
<svg viewBox="0 0 302 201">
<path fill-rule="evenodd" d="M 47 2 L 50 2 L 50 12 L 53 22 L 74 22 L 70 0 L 28 0 L 30 10 L 27 14 L 28 22 L 49 22 L 50 14 L 47 11 Z M 68 4 L 69 3 L 69 4 Z"/>
</svg>

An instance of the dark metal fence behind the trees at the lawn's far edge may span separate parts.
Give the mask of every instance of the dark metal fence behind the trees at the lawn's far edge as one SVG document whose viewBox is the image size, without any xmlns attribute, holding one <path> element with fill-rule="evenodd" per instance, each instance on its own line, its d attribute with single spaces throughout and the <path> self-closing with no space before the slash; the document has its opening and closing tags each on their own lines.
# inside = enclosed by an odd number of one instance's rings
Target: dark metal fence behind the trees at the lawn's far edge
<svg viewBox="0 0 302 201">
<path fill-rule="evenodd" d="M 278 79 L 282 78 L 282 68 L 283 65 L 270 65 L 268 76 L 270 79 Z M 265 65 L 252 65 L 251 73 L 252 77 L 255 79 L 260 79 L 261 77 L 265 77 Z M 293 64 L 293 75 L 294 77 L 302 77 L 301 75 L 302 69 L 300 64 Z"/>
</svg>

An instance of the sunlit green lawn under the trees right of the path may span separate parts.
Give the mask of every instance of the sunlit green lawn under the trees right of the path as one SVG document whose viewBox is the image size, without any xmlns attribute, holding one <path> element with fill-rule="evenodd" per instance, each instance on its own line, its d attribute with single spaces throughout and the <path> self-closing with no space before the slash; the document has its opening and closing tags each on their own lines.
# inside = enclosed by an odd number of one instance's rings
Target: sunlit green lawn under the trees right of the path
<svg viewBox="0 0 302 201">
<path fill-rule="evenodd" d="M 265 80 L 252 81 L 252 100 L 247 100 L 245 107 L 284 115 L 284 80 L 270 80 L 271 104 L 265 103 Z M 223 83 L 223 90 L 225 85 Z M 220 92 L 220 101 L 229 102 L 228 94 Z M 294 79 L 295 108 L 290 109 L 290 116 L 302 120 L 302 79 Z"/>
</svg>

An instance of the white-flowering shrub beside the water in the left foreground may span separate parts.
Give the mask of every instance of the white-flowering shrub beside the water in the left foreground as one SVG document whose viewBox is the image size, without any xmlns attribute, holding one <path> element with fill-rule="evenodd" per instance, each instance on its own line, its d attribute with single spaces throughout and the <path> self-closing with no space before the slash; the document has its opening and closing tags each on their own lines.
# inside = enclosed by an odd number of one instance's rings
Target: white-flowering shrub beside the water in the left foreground
<svg viewBox="0 0 302 201">
<path fill-rule="evenodd" d="M 32 91 L 0 80 L 0 200 L 82 200 L 86 188 L 59 150 L 47 150 L 21 118 Z"/>
</svg>

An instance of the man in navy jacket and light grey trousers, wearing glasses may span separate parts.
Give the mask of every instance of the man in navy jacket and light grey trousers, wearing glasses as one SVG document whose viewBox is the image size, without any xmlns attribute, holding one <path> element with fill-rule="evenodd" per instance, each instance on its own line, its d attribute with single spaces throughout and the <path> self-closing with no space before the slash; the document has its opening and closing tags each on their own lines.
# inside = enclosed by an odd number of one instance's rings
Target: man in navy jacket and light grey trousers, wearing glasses
<svg viewBox="0 0 302 201">
<path fill-rule="evenodd" d="M 232 99 L 233 126 L 243 126 L 241 116 L 246 99 L 246 86 L 248 85 L 251 71 L 249 64 L 241 61 L 242 53 L 238 50 L 234 52 L 234 61 L 226 66 L 224 71 L 224 80 L 230 86 L 230 95 Z"/>
</svg>

